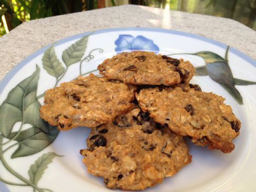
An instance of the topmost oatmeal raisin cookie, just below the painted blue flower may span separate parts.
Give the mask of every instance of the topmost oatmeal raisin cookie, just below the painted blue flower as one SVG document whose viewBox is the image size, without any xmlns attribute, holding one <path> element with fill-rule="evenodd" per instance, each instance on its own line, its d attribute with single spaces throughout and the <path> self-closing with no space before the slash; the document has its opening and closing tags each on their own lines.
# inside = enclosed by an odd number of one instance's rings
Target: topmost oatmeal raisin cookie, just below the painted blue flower
<svg viewBox="0 0 256 192">
<path fill-rule="evenodd" d="M 195 74 L 193 65 L 153 52 L 121 53 L 98 66 L 104 76 L 135 85 L 174 85 L 189 82 Z"/>
</svg>

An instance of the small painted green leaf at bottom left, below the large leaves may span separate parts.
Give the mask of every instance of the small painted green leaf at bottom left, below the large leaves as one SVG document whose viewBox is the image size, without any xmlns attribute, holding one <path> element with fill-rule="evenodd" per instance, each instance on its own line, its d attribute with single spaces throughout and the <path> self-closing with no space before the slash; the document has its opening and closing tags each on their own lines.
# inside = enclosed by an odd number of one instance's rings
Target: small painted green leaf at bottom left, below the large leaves
<svg viewBox="0 0 256 192">
<path fill-rule="evenodd" d="M 42 178 L 45 169 L 50 163 L 52 163 L 55 156 L 57 156 L 57 154 L 53 152 L 43 154 L 35 161 L 33 165 L 30 166 L 28 175 L 29 180 L 31 180 L 33 184 L 37 185 L 38 181 Z"/>
</svg>

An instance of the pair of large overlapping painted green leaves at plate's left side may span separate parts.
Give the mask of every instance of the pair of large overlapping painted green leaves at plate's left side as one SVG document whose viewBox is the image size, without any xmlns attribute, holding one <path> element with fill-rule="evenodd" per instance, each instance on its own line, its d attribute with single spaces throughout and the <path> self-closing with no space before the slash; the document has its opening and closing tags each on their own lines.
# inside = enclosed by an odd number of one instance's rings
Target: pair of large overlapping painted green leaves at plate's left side
<svg viewBox="0 0 256 192">
<path fill-rule="evenodd" d="M 36 99 L 39 74 L 40 68 L 36 66 L 35 72 L 16 85 L 0 106 L 0 132 L 4 137 L 15 138 L 18 142 L 12 158 L 38 153 L 50 145 L 58 134 L 56 128 L 48 126 L 40 117 L 41 104 Z M 20 133 L 12 132 L 16 122 L 32 127 Z"/>
</svg>

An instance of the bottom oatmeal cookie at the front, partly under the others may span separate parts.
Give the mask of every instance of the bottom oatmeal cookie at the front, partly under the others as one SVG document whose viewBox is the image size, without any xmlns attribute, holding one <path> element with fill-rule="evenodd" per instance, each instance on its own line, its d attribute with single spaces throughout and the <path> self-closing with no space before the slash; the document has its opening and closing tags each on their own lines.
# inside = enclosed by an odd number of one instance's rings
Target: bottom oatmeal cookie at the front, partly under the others
<svg viewBox="0 0 256 192">
<path fill-rule="evenodd" d="M 89 173 L 109 188 L 142 190 L 162 183 L 191 162 L 183 137 L 134 108 L 92 129 L 81 150 Z"/>
</svg>

